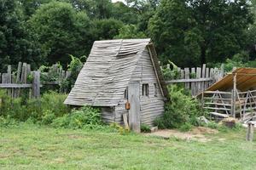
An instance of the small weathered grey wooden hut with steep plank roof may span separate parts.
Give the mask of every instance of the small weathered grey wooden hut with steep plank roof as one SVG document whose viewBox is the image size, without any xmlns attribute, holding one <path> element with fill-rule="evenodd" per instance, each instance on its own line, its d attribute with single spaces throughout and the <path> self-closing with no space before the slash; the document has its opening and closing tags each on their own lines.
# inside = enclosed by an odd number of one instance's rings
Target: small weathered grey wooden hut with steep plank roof
<svg viewBox="0 0 256 170">
<path fill-rule="evenodd" d="M 104 122 L 122 124 L 127 118 L 139 131 L 141 123 L 153 125 L 162 115 L 166 99 L 150 39 L 108 40 L 94 42 L 65 104 L 100 107 Z"/>
</svg>

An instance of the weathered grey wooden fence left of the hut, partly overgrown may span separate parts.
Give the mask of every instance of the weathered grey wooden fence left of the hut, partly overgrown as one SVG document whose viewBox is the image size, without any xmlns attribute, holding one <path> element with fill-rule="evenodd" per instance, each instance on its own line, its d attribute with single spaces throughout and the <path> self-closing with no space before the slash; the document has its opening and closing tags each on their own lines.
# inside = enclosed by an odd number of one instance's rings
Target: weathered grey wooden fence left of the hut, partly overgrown
<svg viewBox="0 0 256 170">
<path fill-rule="evenodd" d="M 69 71 L 62 71 L 57 65 L 52 65 L 49 72 L 44 72 L 44 77 L 55 74 L 58 80 L 45 82 L 41 80 L 42 73 L 40 71 L 31 71 L 31 65 L 19 62 L 16 71 L 12 71 L 11 65 L 8 65 L 7 72 L 0 73 L 0 88 L 7 89 L 7 94 L 12 98 L 24 95 L 24 91 L 28 89 L 30 98 L 40 98 L 40 88 L 46 85 L 60 84 L 61 79 L 70 76 Z"/>
</svg>

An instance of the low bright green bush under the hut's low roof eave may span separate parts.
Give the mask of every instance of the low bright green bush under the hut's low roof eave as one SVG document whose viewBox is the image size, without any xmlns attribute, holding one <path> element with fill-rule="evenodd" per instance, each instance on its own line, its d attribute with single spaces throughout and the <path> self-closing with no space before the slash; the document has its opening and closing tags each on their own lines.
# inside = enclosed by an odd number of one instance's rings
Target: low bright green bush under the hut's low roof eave
<svg viewBox="0 0 256 170">
<path fill-rule="evenodd" d="M 52 125 L 54 127 L 94 128 L 102 126 L 103 123 L 98 109 L 84 106 L 79 110 L 73 110 L 70 114 L 56 118 Z"/>
</svg>

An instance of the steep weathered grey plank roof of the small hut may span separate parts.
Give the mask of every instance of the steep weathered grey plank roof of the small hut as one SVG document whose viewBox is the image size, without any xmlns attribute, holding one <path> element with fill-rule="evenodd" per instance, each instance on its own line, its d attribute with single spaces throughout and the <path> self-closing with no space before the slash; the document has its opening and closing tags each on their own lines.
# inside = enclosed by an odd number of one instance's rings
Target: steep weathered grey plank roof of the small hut
<svg viewBox="0 0 256 170">
<path fill-rule="evenodd" d="M 118 105 L 146 47 L 152 50 L 152 58 L 157 63 L 154 68 L 158 77 L 162 78 L 150 39 L 96 41 L 65 104 Z M 165 81 L 160 79 L 163 95 L 167 97 L 166 85 L 163 82 Z"/>
</svg>

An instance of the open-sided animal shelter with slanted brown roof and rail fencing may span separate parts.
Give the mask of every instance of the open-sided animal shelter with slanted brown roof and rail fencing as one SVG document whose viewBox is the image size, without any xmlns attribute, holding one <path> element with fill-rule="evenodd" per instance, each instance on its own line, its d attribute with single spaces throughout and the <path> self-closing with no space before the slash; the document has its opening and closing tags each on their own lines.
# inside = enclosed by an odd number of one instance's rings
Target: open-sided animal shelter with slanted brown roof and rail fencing
<svg viewBox="0 0 256 170">
<path fill-rule="evenodd" d="M 216 118 L 256 118 L 256 69 L 238 68 L 200 94 L 203 106 Z"/>
</svg>

